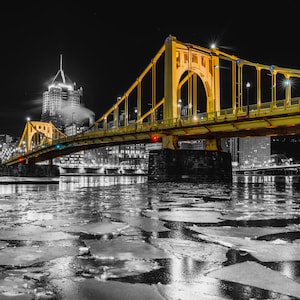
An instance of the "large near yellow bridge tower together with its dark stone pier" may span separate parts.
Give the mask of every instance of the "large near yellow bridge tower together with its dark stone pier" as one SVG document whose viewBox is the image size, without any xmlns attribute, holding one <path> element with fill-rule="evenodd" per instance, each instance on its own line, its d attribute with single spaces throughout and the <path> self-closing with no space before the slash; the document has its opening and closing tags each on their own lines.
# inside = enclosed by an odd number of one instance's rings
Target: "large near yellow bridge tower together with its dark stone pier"
<svg viewBox="0 0 300 300">
<path fill-rule="evenodd" d="M 164 122 L 181 119 L 181 87 L 187 83 L 187 117 L 197 117 L 197 77 L 206 94 L 208 118 L 220 112 L 219 56 L 195 49 L 169 36 L 165 41 Z M 206 49 L 207 50 L 207 49 Z M 179 149 L 176 135 L 162 136 L 162 149 L 149 154 L 149 180 L 165 181 L 194 177 L 231 180 L 231 155 L 221 151 L 220 141 L 206 139 L 206 149 Z"/>
</svg>

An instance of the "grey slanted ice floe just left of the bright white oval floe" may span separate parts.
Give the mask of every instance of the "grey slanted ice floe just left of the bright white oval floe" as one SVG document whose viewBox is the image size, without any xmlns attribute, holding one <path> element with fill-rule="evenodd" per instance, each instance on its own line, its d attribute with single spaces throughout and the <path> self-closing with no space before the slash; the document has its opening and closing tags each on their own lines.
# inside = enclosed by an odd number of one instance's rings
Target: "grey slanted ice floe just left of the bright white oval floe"
<svg viewBox="0 0 300 300">
<path fill-rule="evenodd" d="M 156 219 L 151 219 L 143 216 L 124 216 L 121 214 L 111 214 L 111 218 L 117 219 L 121 222 L 125 222 L 132 227 L 138 227 L 147 232 L 162 232 L 170 231 L 165 227 L 165 223 Z"/>
</svg>

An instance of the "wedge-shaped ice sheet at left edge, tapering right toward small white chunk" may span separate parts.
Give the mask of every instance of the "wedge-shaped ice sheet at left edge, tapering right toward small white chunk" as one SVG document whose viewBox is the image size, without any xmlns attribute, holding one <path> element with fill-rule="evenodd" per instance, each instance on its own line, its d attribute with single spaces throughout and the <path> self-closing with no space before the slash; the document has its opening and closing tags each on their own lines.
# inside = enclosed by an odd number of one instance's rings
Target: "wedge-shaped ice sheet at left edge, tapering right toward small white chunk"
<svg viewBox="0 0 300 300">
<path fill-rule="evenodd" d="M 62 256 L 77 255 L 75 247 L 42 246 L 42 247 L 7 247 L 0 250 L 0 266 L 31 266 Z"/>
</svg>

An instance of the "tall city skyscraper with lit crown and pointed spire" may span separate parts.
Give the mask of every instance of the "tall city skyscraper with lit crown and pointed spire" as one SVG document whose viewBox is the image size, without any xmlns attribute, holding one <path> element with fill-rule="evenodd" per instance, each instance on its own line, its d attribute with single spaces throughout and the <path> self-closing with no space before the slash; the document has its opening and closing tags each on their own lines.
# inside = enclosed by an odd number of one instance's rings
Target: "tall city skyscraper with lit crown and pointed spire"
<svg viewBox="0 0 300 300">
<path fill-rule="evenodd" d="M 48 91 L 43 93 L 41 121 L 51 121 L 60 130 L 77 123 L 75 113 L 80 108 L 82 95 L 82 88 L 76 89 L 76 84 L 65 75 L 60 55 L 59 70 Z"/>
</svg>

